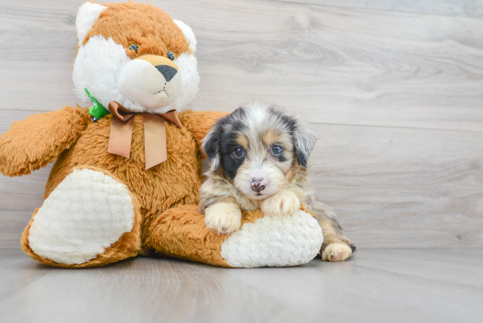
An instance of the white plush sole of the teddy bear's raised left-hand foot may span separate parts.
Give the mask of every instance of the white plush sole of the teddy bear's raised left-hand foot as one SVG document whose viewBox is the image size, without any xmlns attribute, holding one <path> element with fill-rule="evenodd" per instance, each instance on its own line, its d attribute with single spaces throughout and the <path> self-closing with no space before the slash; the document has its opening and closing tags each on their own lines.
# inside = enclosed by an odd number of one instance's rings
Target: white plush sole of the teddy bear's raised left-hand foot
<svg viewBox="0 0 483 323">
<path fill-rule="evenodd" d="M 38 210 L 29 245 L 55 262 L 81 264 L 131 231 L 134 214 L 126 185 L 102 172 L 76 169 Z"/>
</svg>

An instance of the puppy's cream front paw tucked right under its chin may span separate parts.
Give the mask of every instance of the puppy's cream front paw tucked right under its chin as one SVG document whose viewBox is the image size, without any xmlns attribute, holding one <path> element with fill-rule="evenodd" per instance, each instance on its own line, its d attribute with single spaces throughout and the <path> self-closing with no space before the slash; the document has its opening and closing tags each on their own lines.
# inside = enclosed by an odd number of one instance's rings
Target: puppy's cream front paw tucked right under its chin
<svg viewBox="0 0 483 323">
<path fill-rule="evenodd" d="M 292 215 L 299 211 L 300 200 L 293 191 L 284 189 L 264 200 L 260 209 L 265 215 Z"/>
</svg>

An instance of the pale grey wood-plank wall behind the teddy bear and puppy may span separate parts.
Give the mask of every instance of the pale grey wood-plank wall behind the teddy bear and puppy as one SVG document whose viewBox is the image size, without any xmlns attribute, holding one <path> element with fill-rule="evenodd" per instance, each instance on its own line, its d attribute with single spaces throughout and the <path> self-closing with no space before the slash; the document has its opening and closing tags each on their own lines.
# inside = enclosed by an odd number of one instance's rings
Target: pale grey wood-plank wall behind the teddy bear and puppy
<svg viewBox="0 0 483 323">
<path fill-rule="evenodd" d="M 0 132 L 78 102 L 82 2 L 0 0 Z M 261 99 L 311 122 L 317 195 L 360 248 L 483 245 L 483 20 L 268 0 L 153 4 L 197 35 L 191 108 Z M 49 170 L 0 179 L 2 219 L 16 232 Z"/>
</svg>

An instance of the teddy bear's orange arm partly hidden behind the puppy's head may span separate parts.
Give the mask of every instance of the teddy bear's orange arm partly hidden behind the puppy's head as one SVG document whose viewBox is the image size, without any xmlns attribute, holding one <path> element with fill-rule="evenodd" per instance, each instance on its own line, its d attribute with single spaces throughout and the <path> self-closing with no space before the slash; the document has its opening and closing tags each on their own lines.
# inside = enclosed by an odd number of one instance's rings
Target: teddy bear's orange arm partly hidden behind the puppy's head
<svg viewBox="0 0 483 323">
<path fill-rule="evenodd" d="M 201 141 L 207 136 L 211 126 L 221 118 L 226 116 L 227 112 L 222 111 L 193 111 L 187 110 L 179 115 L 179 119 L 183 126 L 193 135 L 198 148 L 201 150 Z"/>
</svg>

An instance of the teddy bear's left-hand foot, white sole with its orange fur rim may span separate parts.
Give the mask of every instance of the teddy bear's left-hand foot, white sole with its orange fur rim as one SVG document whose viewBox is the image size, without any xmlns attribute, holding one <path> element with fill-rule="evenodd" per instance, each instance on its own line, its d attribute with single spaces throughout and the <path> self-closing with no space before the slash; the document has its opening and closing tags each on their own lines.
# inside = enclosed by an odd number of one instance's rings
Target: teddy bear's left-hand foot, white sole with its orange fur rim
<svg viewBox="0 0 483 323">
<path fill-rule="evenodd" d="M 22 249 L 59 267 L 92 267 L 136 256 L 141 215 L 136 197 L 108 172 L 76 167 L 35 210 Z"/>
</svg>

